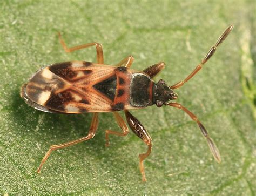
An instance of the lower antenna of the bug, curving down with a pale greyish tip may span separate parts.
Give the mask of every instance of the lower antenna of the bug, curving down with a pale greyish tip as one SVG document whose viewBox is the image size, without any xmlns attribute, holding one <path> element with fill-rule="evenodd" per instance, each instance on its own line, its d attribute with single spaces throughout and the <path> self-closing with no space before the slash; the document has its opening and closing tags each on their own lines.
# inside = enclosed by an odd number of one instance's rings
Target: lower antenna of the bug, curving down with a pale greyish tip
<svg viewBox="0 0 256 196">
<path fill-rule="evenodd" d="M 208 146 L 210 147 L 210 150 L 212 152 L 212 155 L 213 155 L 214 159 L 218 163 L 220 163 L 221 159 L 220 159 L 219 150 L 216 147 L 216 145 L 214 144 L 213 140 L 210 138 L 210 136 L 209 136 L 208 132 L 206 131 L 204 125 L 200 123 L 200 121 L 198 120 L 196 115 L 194 115 L 191 111 L 187 110 L 186 107 L 182 106 L 181 104 L 169 103 L 168 105 L 183 110 L 184 112 L 186 112 L 188 114 L 188 116 L 190 116 L 190 118 L 192 118 L 192 120 L 196 121 L 196 123 L 198 124 L 198 126 L 199 126 L 199 128 L 200 128 L 200 130 L 203 134 L 203 136 L 207 139 Z"/>
</svg>

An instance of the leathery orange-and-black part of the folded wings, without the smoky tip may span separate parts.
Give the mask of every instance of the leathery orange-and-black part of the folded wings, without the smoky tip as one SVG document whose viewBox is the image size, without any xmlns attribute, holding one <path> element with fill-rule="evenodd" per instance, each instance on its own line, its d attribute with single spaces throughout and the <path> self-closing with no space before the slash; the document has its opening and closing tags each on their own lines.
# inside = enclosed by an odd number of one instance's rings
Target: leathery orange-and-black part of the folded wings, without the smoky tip
<svg viewBox="0 0 256 196">
<path fill-rule="evenodd" d="M 53 75 L 66 81 L 63 88 L 51 92 L 43 105 L 56 112 L 83 113 L 111 111 L 111 98 L 93 85 L 115 77 L 116 67 L 89 62 L 64 62 L 46 67 Z M 113 83 L 114 84 L 114 83 Z M 47 85 L 47 84 L 45 84 Z M 107 86 L 105 86 L 107 88 Z M 106 92 L 109 92 L 106 90 Z M 113 93 L 113 89 L 111 91 Z"/>
</svg>

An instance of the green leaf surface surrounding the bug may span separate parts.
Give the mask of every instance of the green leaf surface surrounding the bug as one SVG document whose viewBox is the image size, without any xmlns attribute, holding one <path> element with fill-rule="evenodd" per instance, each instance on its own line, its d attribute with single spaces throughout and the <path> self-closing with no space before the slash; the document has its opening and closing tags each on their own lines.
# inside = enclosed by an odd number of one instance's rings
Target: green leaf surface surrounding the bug
<svg viewBox="0 0 256 196">
<path fill-rule="evenodd" d="M 0 192 L 81 195 L 255 195 L 255 3 L 254 1 L 1 1 Z M 138 154 L 146 145 L 120 130 L 111 113 L 100 114 L 95 138 L 53 152 L 53 144 L 83 137 L 91 114 L 37 111 L 19 89 L 40 67 L 67 60 L 95 62 L 94 48 L 65 53 L 69 46 L 99 42 L 106 64 L 128 55 L 132 69 L 165 62 L 157 77 L 184 79 L 229 25 L 234 29 L 204 68 L 176 92 L 204 124 L 222 162 L 208 150 L 200 130 L 183 111 L 151 106 L 131 111 L 151 134 L 142 183 Z M 253 31 L 254 29 L 254 31 Z M 254 78 L 253 78 L 254 76 Z M 123 113 L 122 113 L 123 115 Z"/>
</svg>

